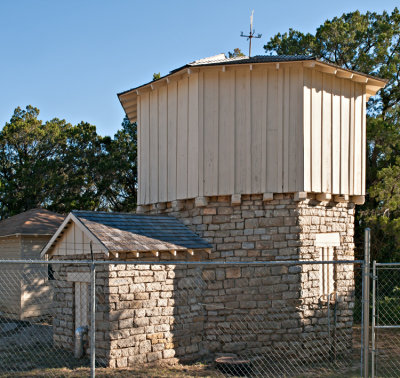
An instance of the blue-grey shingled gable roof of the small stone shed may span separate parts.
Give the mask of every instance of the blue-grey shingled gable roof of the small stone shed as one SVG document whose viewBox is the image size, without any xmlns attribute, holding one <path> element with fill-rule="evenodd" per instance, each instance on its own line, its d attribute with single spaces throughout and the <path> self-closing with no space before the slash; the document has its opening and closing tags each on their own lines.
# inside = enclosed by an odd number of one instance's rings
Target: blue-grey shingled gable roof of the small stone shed
<svg viewBox="0 0 400 378">
<path fill-rule="evenodd" d="M 42 254 L 52 249 L 63 229 L 71 221 L 83 225 L 109 252 L 161 252 L 211 248 L 209 243 L 174 217 L 72 211 L 43 249 Z"/>
</svg>

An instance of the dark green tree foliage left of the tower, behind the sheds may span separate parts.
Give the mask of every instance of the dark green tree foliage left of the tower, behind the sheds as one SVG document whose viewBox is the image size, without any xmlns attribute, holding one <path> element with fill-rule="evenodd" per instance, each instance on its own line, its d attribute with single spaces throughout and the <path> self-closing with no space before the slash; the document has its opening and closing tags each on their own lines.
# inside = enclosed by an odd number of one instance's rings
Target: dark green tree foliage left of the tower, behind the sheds
<svg viewBox="0 0 400 378">
<path fill-rule="evenodd" d="M 136 125 L 114 138 L 85 122 L 42 122 L 17 108 L 0 131 L 0 219 L 35 207 L 123 210 L 136 206 Z"/>
</svg>

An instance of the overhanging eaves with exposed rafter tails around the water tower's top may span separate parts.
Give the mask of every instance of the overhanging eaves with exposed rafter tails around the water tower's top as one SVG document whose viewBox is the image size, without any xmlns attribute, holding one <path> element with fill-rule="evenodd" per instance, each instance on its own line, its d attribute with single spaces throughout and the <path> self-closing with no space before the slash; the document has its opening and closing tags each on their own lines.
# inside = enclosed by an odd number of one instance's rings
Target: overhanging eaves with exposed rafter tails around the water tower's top
<svg viewBox="0 0 400 378">
<path fill-rule="evenodd" d="M 201 61 L 199 61 L 201 62 Z M 286 64 L 302 64 L 306 68 L 312 68 L 317 71 L 325 72 L 328 74 L 335 75 L 341 79 L 352 80 L 361 84 L 366 85 L 367 96 L 366 100 L 371 96 L 374 96 L 380 89 L 384 88 L 388 82 L 386 79 L 380 79 L 371 75 L 367 75 L 361 72 L 352 71 L 349 69 L 342 68 L 335 64 L 327 63 L 320 61 L 316 58 L 304 59 L 304 60 L 280 60 L 277 58 L 276 61 L 268 61 L 268 62 L 246 62 L 246 59 L 243 59 L 241 62 L 240 59 L 224 61 L 215 61 L 208 63 L 195 63 L 195 64 L 187 64 L 183 67 L 175 69 L 171 71 L 168 75 L 163 76 L 158 80 L 154 80 L 143 85 L 140 85 L 136 88 L 129 89 L 127 91 L 118 93 L 118 99 L 124 108 L 125 114 L 131 122 L 137 121 L 137 99 L 138 96 L 144 94 L 149 91 L 153 91 L 161 86 L 167 85 L 170 81 L 179 80 L 184 75 L 190 75 L 193 72 L 198 72 L 200 69 L 206 67 L 216 67 L 221 66 L 222 70 L 225 71 L 228 67 L 238 67 L 238 66 L 250 66 L 252 69 L 254 66 L 260 65 L 274 65 L 277 69 L 279 69 L 280 65 Z"/>
</svg>

